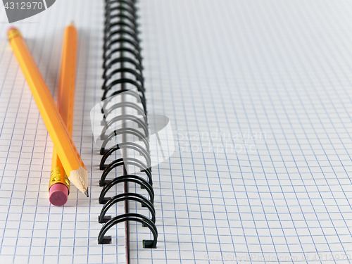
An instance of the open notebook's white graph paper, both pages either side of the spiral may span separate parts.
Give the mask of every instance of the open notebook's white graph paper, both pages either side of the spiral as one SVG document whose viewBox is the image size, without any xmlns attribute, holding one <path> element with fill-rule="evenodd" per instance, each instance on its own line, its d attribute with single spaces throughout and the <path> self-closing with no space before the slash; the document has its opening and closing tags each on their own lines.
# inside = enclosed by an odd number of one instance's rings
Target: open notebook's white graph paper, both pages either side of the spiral
<svg viewBox="0 0 352 264">
<path fill-rule="evenodd" d="M 63 28 L 80 30 L 73 140 L 91 195 L 72 187 L 62 208 L 47 199 L 52 144 L 1 10 L 0 263 L 125 261 L 123 232 L 96 244 L 102 4 L 61 0 L 18 23 L 53 94 Z M 138 5 L 147 108 L 170 118 L 177 146 L 153 168 L 158 248 L 132 224 L 132 263 L 351 263 L 351 2 Z"/>
</svg>

